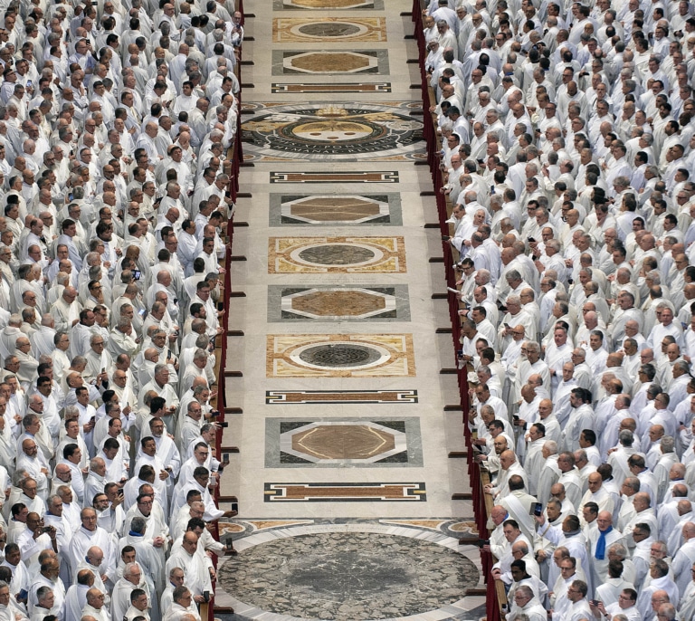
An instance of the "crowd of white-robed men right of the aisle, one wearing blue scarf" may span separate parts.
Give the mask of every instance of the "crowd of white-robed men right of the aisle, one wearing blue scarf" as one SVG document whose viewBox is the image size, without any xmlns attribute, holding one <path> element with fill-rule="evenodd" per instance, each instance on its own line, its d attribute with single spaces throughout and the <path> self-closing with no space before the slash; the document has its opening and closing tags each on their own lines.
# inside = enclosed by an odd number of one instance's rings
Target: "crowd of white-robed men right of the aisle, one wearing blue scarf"
<svg viewBox="0 0 695 621">
<path fill-rule="evenodd" d="M 508 621 L 695 616 L 693 13 L 423 12 Z"/>
</svg>

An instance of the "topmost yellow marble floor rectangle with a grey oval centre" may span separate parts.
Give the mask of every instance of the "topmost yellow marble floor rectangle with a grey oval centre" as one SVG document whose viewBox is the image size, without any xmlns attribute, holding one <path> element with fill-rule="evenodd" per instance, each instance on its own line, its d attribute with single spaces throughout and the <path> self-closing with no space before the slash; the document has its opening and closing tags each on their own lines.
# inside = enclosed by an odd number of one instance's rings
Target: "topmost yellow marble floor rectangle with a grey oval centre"
<svg viewBox="0 0 695 621">
<path fill-rule="evenodd" d="M 278 17 L 272 20 L 272 41 L 273 43 L 385 42 L 386 18 Z"/>
</svg>

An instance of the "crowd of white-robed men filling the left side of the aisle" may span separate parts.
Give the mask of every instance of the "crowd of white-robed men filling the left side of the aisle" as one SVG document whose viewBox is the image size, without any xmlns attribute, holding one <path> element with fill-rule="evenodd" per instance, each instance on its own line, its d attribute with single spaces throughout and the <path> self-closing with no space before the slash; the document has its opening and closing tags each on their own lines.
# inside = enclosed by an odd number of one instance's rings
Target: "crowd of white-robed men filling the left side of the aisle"
<svg viewBox="0 0 695 621">
<path fill-rule="evenodd" d="M 0 1 L 0 621 L 200 621 L 233 0 Z"/>
</svg>

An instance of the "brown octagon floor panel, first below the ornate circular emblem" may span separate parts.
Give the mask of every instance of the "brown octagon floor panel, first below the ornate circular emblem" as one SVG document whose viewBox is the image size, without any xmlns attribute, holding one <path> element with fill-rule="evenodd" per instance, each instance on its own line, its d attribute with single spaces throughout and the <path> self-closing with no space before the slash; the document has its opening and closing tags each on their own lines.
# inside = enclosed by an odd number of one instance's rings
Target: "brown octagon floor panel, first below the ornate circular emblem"
<svg viewBox="0 0 695 621">
<path fill-rule="evenodd" d="M 270 224 L 278 225 L 402 225 L 400 196 L 271 194 Z"/>
</svg>

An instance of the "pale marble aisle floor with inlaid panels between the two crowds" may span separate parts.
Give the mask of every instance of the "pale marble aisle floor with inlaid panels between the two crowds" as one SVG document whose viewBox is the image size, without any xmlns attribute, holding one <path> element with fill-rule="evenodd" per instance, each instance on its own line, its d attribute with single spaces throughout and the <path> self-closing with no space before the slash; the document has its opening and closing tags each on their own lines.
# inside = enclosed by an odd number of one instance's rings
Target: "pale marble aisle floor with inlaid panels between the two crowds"
<svg viewBox="0 0 695 621">
<path fill-rule="evenodd" d="M 481 614 L 410 6 L 244 5 L 222 482 L 240 554 L 216 600 L 234 619 Z"/>
</svg>

